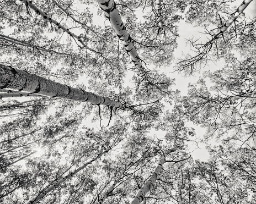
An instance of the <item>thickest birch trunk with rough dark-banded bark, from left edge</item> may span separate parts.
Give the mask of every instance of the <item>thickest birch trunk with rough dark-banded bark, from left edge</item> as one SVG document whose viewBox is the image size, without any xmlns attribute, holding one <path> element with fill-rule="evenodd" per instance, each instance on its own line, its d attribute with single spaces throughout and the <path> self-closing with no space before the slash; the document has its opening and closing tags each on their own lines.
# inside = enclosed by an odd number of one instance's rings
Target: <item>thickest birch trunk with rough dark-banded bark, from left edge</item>
<svg viewBox="0 0 256 204">
<path fill-rule="evenodd" d="M 118 101 L 113 101 L 108 97 L 98 96 L 82 89 L 74 89 L 71 86 L 63 85 L 2 64 L 0 64 L 0 89 L 14 89 L 29 92 L 24 93 L 27 95 L 36 93 L 36 95 L 84 101 L 97 105 L 102 104 L 111 108 L 123 109 L 126 111 L 134 110 L 132 106 L 124 105 Z M 18 95 L 19 94 L 20 93 L 18 93 Z"/>
</svg>

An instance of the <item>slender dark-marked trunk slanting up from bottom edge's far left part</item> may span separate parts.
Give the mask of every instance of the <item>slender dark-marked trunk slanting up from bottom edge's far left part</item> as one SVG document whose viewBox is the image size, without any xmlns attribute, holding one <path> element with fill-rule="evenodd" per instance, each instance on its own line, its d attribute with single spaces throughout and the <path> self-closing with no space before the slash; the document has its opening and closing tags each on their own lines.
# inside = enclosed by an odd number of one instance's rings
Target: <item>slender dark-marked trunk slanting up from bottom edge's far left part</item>
<svg viewBox="0 0 256 204">
<path fill-rule="evenodd" d="M 40 201 L 41 199 L 43 199 L 47 194 L 49 194 L 49 192 L 51 192 L 52 190 L 56 189 L 61 183 L 63 183 L 64 181 L 66 181 L 67 179 L 73 177 L 74 174 L 78 173 L 79 171 L 81 171 L 82 169 L 86 168 L 89 164 L 93 163 L 94 161 L 96 161 L 100 156 L 102 156 L 105 152 L 108 152 L 110 150 L 110 148 L 104 152 L 100 152 L 99 155 L 97 155 L 96 157 L 94 157 L 93 159 L 91 159 L 89 162 L 85 163 L 82 167 L 78 168 L 77 170 L 75 170 L 74 172 L 71 172 L 70 174 L 66 175 L 66 177 L 62 177 L 61 179 L 56 179 L 55 181 L 52 181 L 51 184 L 49 184 L 48 186 L 46 186 L 46 188 L 44 188 L 43 190 L 41 190 L 38 194 L 38 196 L 35 196 L 33 199 L 31 199 L 27 204 L 34 204 L 38 201 Z"/>
</svg>

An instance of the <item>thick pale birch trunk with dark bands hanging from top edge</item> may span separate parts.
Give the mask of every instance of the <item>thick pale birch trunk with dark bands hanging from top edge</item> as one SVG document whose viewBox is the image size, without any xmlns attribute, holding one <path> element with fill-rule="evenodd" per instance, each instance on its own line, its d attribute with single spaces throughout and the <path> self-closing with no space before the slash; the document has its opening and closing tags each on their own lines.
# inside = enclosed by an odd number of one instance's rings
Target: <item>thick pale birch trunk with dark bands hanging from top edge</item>
<svg viewBox="0 0 256 204">
<path fill-rule="evenodd" d="M 132 59 L 132 62 L 135 64 L 136 69 L 139 73 L 145 77 L 147 75 L 147 71 L 142 67 L 140 58 L 138 57 L 138 53 L 134 44 L 131 42 L 131 37 L 127 30 L 125 29 L 125 25 L 122 22 L 121 16 L 118 13 L 118 9 L 116 9 L 116 4 L 113 0 L 97 0 L 99 2 L 100 8 L 104 11 L 106 18 L 109 19 L 111 25 L 113 26 L 116 35 L 119 37 L 122 44 L 125 46 L 126 52 Z"/>
</svg>

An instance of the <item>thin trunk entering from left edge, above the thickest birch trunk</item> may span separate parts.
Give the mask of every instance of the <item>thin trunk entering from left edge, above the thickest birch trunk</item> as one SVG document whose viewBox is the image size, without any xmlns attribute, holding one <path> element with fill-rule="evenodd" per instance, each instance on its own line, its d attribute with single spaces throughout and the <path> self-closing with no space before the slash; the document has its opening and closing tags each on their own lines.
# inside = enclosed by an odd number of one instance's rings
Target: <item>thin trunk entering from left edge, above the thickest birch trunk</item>
<svg viewBox="0 0 256 204">
<path fill-rule="evenodd" d="M 54 51 L 52 49 L 45 49 L 44 47 L 40 47 L 40 46 L 36 46 L 36 45 L 31 45 L 28 42 L 25 42 L 25 41 L 22 41 L 22 40 L 18 40 L 18 39 L 15 39 L 13 37 L 9 37 L 9 36 L 2 35 L 2 34 L 0 34 L 0 40 L 7 41 L 7 42 L 10 42 L 10 43 L 13 43 L 13 44 L 16 44 L 16 45 L 22 45 L 22 46 L 26 46 L 26 47 L 31 47 L 31 48 L 34 48 L 34 49 L 38 49 L 39 51 L 50 52 L 50 53 L 55 53 L 55 54 L 65 54 L 65 55 L 68 55 L 66 53 L 57 52 L 57 51 Z"/>
</svg>

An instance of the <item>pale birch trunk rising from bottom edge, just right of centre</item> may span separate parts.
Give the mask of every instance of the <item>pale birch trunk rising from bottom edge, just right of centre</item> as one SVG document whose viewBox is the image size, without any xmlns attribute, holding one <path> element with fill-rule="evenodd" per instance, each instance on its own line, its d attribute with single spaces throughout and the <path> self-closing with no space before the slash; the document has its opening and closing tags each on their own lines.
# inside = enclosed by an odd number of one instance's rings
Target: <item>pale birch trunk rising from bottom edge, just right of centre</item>
<svg viewBox="0 0 256 204">
<path fill-rule="evenodd" d="M 168 151 L 168 153 L 175 152 L 177 150 L 176 140 L 177 140 L 177 137 L 174 138 L 173 148 L 170 149 Z M 156 183 L 158 175 L 161 174 L 161 172 L 163 170 L 163 164 L 166 162 L 166 157 L 168 156 L 168 153 L 164 153 L 160 157 L 160 161 L 158 163 L 157 168 L 154 170 L 153 174 L 148 179 L 148 181 L 142 186 L 142 188 L 140 190 L 138 190 L 138 192 L 135 195 L 134 200 L 132 200 L 131 204 L 140 204 L 142 202 L 142 200 L 145 198 L 147 192 L 152 189 L 154 183 Z"/>
</svg>

